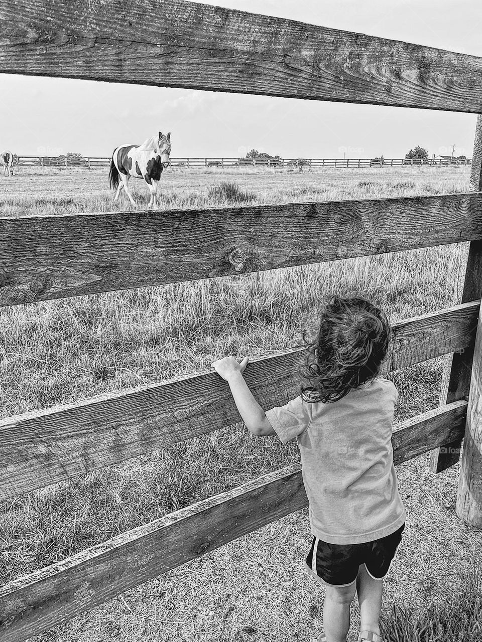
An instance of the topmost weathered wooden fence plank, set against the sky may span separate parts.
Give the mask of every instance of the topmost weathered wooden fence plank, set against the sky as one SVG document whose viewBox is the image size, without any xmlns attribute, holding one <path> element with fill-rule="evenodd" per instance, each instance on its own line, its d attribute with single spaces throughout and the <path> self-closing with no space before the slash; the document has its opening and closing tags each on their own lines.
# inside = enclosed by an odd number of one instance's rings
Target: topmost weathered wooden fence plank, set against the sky
<svg viewBox="0 0 482 642">
<path fill-rule="evenodd" d="M 6 0 L 0 72 L 482 111 L 482 59 L 181 0 Z"/>
</svg>

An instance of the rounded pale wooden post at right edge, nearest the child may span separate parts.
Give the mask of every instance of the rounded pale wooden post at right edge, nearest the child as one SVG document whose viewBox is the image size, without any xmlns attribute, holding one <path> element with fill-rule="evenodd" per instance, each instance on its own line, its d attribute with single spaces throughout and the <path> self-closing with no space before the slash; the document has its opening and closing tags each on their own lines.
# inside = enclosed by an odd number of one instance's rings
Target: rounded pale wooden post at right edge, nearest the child
<svg viewBox="0 0 482 642">
<path fill-rule="evenodd" d="M 479 312 L 472 360 L 469 406 L 455 510 L 467 524 L 482 529 L 482 309 Z"/>
</svg>

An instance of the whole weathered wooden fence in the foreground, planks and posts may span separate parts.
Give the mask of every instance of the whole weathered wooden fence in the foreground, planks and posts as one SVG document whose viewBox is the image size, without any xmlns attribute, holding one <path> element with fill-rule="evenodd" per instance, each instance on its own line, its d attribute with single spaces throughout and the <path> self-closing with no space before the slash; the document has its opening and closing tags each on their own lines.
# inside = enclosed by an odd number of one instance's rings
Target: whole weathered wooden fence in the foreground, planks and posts
<svg viewBox="0 0 482 642">
<path fill-rule="evenodd" d="M 0 17 L 0 73 L 482 111 L 482 58 L 406 42 L 181 0 L 158 3 L 154 13 L 147 0 L 109 0 L 95 11 L 87 0 L 16 0 Z M 482 528 L 481 160 L 479 117 L 474 193 L 192 209 L 168 219 L 156 211 L 2 218 L 0 304 L 470 241 L 461 302 L 396 324 L 383 372 L 452 354 L 445 403 L 395 426 L 394 459 L 432 451 L 441 471 L 458 461 L 463 439 L 456 512 Z M 300 358 L 291 349 L 249 366 L 263 406 L 296 394 Z M 7 417 L 0 495 L 238 419 L 213 372 Z M 299 467 L 290 466 L 17 578 L 0 589 L 0 639 L 38 634 L 306 503 Z"/>
</svg>

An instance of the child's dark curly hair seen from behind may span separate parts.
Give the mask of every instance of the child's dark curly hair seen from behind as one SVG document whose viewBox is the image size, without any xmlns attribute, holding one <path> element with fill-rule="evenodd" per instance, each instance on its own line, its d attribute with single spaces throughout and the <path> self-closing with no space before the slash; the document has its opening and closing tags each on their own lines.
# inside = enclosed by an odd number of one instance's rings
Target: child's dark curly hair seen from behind
<svg viewBox="0 0 482 642">
<path fill-rule="evenodd" d="M 338 401 L 375 379 L 391 337 L 386 315 L 364 297 L 334 295 L 319 317 L 314 338 L 303 331 L 307 356 L 298 370 L 307 382 L 301 396 L 310 403 Z"/>
</svg>

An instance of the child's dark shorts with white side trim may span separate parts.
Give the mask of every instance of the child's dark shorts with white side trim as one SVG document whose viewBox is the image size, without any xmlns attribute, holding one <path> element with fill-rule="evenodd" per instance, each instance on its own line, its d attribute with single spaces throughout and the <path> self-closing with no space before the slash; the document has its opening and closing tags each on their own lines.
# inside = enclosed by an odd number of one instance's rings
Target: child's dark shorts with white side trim
<svg viewBox="0 0 482 642">
<path fill-rule="evenodd" d="M 404 528 L 405 524 L 402 524 L 394 533 L 362 544 L 329 544 L 313 537 L 305 568 L 328 586 L 350 586 L 355 582 L 361 564 L 365 565 L 370 577 L 382 580 L 400 546 Z"/>
</svg>

